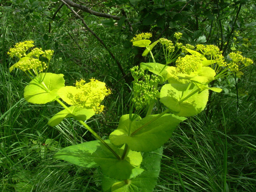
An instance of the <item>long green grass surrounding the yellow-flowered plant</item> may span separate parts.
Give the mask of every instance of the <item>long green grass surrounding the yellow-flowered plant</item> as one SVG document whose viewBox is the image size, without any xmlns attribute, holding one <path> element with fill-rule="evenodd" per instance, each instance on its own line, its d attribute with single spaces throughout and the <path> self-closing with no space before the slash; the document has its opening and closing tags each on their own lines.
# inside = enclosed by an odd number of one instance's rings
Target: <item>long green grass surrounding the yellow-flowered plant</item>
<svg viewBox="0 0 256 192">
<path fill-rule="evenodd" d="M 130 85 L 120 80 L 115 62 L 106 50 L 94 43 L 88 33 L 73 31 L 78 24 L 71 25 L 66 20 L 65 39 L 63 31 L 56 28 L 46 41 L 37 33 L 44 26 L 26 28 L 25 21 L 17 22 L 11 11 L 5 11 L 1 19 L 0 191 L 27 192 L 32 188 L 33 192 L 101 191 L 100 169 L 83 169 L 53 158 L 61 148 L 93 140 L 92 136 L 72 119 L 49 127 L 47 121 L 60 106 L 54 102 L 40 106 L 26 102 L 23 89 L 28 78 L 18 70 L 9 73 L 14 60 L 6 52 L 16 42 L 37 39 L 38 45 L 55 50 L 50 70 L 63 73 L 66 84 L 72 85 L 82 77 L 104 80 L 113 89 L 113 94 L 104 101 L 108 110 L 89 122 L 102 138 L 107 138 L 116 129 L 120 116 L 128 113 Z M 99 30 L 97 25 L 92 28 L 112 46 L 113 52 L 116 50 L 117 59 L 128 72 L 133 56 L 117 49 L 128 37 L 113 33 L 112 28 Z M 255 51 L 250 48 L 248 54 L 254 56 Z M 238 87 L 248 91 L 239 97 L 239 108 L 236 97 L 229 94 L 235 93 L 235 89 L 228 87 L 229 93 L 213 97 L 211 116 L 202 112 L 177 128 L 164 146 L 155 191 L 256 191 L 255 75 L 252 66 L 238 82 Z"/>
</svg>

